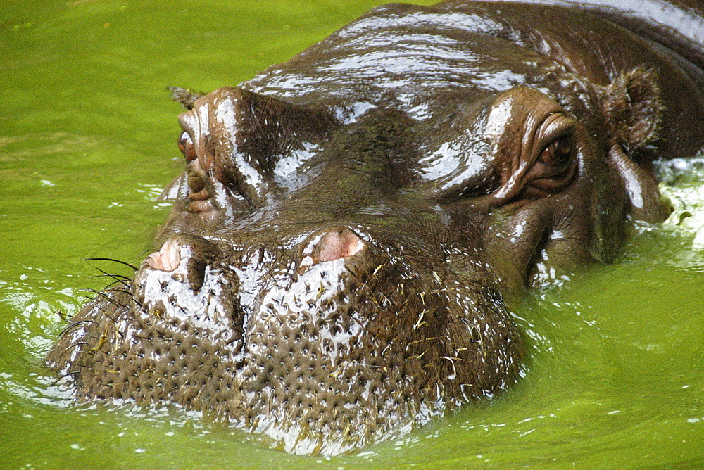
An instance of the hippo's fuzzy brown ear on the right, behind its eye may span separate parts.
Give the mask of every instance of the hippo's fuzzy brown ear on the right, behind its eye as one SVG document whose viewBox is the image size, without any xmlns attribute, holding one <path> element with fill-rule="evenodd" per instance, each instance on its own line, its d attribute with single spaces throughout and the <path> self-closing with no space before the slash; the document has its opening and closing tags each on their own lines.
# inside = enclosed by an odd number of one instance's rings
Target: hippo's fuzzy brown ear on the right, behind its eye
<svg viewBox="0 0 704 470">
<path fill-rule="evenodd" d="M 620 144 L 635 156 L 658 139 L 665 106 L 660 99 L 658 72 L 646 65 L 623 72 L 603 88 L 601 109 L 609 127 L 612 144 Z"/>
</svg>

